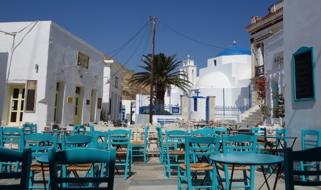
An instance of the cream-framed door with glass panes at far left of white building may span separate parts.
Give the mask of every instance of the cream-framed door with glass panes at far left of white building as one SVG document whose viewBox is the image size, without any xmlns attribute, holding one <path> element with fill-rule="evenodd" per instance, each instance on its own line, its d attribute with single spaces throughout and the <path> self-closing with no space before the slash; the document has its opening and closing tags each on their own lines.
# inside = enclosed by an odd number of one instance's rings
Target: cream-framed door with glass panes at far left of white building
<svg viewBox="0 0 321 190">
<path fill-rule="evenodd" d="M 8 125 L 18 125 L 22 121 L 25 104 L 25 85 L 12 85 L 10 91 L 10 103 Z"/>
</svg>

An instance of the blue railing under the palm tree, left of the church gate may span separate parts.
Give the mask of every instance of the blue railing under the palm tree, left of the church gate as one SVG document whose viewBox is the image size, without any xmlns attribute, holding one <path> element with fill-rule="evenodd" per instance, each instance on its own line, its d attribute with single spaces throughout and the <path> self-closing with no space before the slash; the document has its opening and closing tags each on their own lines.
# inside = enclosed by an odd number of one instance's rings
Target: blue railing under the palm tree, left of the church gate
<svg viewBox="0 0 321 190">
<path fill-rule="evenodd" d="M 139 107 L 139 114 L 149 114 L 149 105 Z M 153 115 L 181 115 L 180 105 L 157 104 L 152 105 Z"/>
</svg>

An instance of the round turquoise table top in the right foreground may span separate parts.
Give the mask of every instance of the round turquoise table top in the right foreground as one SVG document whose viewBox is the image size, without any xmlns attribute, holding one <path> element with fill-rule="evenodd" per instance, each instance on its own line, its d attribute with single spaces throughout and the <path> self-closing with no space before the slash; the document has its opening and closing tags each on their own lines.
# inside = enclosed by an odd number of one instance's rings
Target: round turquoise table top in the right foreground
<svg viewBox="0 0 321 190">
<path fill-rule="evenodd" d="M 234 165 L 270 165 L 280 163 L 283 157 L 262 153 L 221 153 L 211 155 L 210 159 L 217 163 Z"/>
</svg>

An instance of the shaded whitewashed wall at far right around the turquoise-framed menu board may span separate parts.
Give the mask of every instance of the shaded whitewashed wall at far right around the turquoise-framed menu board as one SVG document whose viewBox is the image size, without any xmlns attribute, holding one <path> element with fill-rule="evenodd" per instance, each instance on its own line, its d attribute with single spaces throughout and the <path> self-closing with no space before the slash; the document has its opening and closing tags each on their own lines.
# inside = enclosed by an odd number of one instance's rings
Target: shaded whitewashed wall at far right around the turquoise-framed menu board
<svg viewBox="0 0 321 190">
<path fill-rule="evenodd" d="M 297 136 L 295 149 L 301 149 L 301 129 L 320 129 L 321 123 L 321 1 L 283 0 L 285 127 Z M 294 102 L 292 54 L 301 46 L 314 47 L 316 100 Z"/>
</svg>

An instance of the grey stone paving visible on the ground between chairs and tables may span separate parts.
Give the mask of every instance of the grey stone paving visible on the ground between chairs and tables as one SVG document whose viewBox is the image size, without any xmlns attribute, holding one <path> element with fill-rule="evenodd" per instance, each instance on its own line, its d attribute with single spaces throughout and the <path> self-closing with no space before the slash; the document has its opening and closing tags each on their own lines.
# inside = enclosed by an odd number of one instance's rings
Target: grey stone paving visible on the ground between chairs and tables
<svg viewBox="0 0 321 190">
<path fill-rule="evenodd" d="M 151 154 L 152 151 L 149 152 L 147 157 L 147 163 L 144 164 L 142 159 L 134 159 L 132 164 L 132 173 L 131 176 L 127 177 L 124 180 L 124 171 L 121 167 L 119 167 L 119 174 L 115 175 L 114 179 L 114 189 L 115 190 L 145 190 L 145 189 L 178 189 L 177 185 L 177 170 L 172 170 L 172 180 L 169 180 L 167 176 L 164 176 L 164 165 L 159 163 L 158 155 Z M 45 172 L 45 176 L 48 179 L 49 172 Z M 84 175 L 84 172 L 80 172 L 80 176 Z M 224 174 L 224 172 L 220 171 L 220 174 Z M 271 177 L 268 179 L 270 188 L 273 188 L 274 180 L 276 174 L 273 173 Z M 234 172 L 233 178 L 241 178 L 243 177 L 243 172 L 236 170 Z M 38 172 L 35 176 L 35 179 L 42 180 L 41 172 Z M 17 183 L 17 180 L 11 179 L 2 179 L 0 180 L 0 184 L 8 184 L 8 183 Z M 264 177 L 260 167 L 256 167 L 255 171 L 255 185 L 254 189 L 259 189 L 260 186 L 264 182 Z M 232 183 L 235 184 L 235 183 Z M 224 183 L 225 185 L 225 183 Z M 232 188 L 232 189 L 244 189 L 244 188 Z M 264 184 L 261 188 L 262 190 L 266 190 L 267 186 Z M 282 173 L 281 178 L 277 181 L 276 189 L 285 189 L 284 184 L 284 174 Z M 296 186 L 295 189 L 321 189 L 321 187 L 307 187 L 307 186 Z"/>
</svg>

